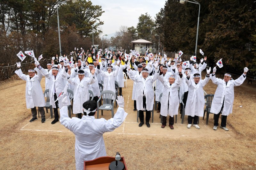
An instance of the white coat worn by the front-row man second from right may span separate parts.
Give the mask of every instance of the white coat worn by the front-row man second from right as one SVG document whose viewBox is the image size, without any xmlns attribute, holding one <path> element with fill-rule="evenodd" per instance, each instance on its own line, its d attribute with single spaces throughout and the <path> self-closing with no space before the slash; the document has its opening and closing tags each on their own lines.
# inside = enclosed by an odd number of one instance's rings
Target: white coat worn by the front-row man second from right
<svg viewBox="0 0 256 170">
<path fill-rule="evenodd" d="M 190 76 L 189 80 L 186 78 L 186 83 L 188 85 L 188 99 L 185 107 L 185 115 L 203 117 L 205 103 L 203 87 L 208 83 L 210 77 L 205 77 L 204 80 L 200 80 L 197 85 L 191 78 L 193 77 Z"/>
</svg>

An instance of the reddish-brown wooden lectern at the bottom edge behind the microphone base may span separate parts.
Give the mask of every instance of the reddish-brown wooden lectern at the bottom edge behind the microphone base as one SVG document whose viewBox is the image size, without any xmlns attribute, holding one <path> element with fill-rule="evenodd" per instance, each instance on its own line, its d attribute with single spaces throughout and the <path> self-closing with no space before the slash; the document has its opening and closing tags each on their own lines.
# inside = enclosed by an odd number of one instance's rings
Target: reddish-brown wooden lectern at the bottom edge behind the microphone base
<svg viewBox="0 0 256 170">
<path fill-rule="evenodd" d="M 108 166 L 112 161 L 116 161 L 115 157 L 103 156 L 84 161 L 84 170 L 108 170 Z M 124 163 L 124 170 L 127 170 L 124 157 L 121 157 L 120 161 Z"/>
</svg>

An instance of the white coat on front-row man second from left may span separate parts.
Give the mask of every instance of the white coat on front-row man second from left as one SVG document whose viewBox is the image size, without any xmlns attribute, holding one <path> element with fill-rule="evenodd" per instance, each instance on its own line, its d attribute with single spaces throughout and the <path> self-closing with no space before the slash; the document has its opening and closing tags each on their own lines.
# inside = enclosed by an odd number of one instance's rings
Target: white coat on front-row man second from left
<svg viewBox="0 0 256 170">
<path fill-rule="evenodd" d="M 56 108 L 56 103 L 54 103 L 54 87 L 56 90 L 56 95 L 57 97 L 59 96 L 59 94 L 63 91 L 64 87 L 66 84 L 64 84 L 65 81 L 67 81 L 67 73 L 65 70 L 58 72 L 56 79 L 54 79 L 54 76 L 52 75 L 52 72 L 47 72 L 46 70 L 44 70 L 43 68 L 39 70 L 39 72 L 41 72 L 45 78 L 49 79 L 49 83 L 50 83 L 50 88 L 49 88 L 49 97 L 50 97 L 50 105 L 52 105 L 53 108 Z M 63 97 L 65 97 L 63 95 Z M 62 98 L 61 97 L 58 100 L 59 103 L 59 108 L 62 107 Z M 68 93 L 67 93 L 67 98 L 69 99 Z M 68 100 L 68 104 L 71 105 L 70 100 Z"/>
</svg>

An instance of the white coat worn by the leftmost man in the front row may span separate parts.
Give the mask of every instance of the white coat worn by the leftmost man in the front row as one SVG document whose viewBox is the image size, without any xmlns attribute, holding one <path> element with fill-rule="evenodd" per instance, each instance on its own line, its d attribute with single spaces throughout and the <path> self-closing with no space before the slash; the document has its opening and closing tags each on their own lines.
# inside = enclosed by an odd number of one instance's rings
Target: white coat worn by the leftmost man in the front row
<svg viewBox="0 0 256 170">
<path fill-rule="evenodd" d="M 26 106 L 28 109 L 34 107 L 44 107 L 44 93 L 40 85 L 42 75 L 38 73 L 32 78 L 29 75 L 22 73 L 21 69 L 16 70 L 15 73 L 22 79 L 26 81 Z"/>
</svg>

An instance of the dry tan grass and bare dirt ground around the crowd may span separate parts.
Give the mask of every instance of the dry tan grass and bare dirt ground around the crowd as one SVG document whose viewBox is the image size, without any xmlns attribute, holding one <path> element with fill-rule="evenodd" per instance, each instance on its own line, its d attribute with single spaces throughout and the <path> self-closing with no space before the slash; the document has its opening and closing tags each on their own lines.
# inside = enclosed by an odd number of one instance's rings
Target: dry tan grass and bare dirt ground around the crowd
<svg viewBox="0 0 256 170">
<path fill-rule="evenodd" d="M 44 90 L 44 78 L 41 85 Z M 60 122 L 52 125 L 49 113 L 45 123 L 41 117 L 30 123 L 25 86 L 26 82 L 18 78 L 0 83 L 0 169 L 75 169 L 74 135 Z M 214 94 L 216 85 L 210 80 L 204 90 Z M 138 127 L 132 80 L 128 79 L 127 88 L 123 88 L 128 116 L 121 127 L 104 134 L 107 155 L 120 152 L 132 170 L 256 169 L 255 94 L 256 84 L 247 85 L 247 80 L 235 87 L 228 132 L 220 127 L 212 129 L 212 114 L 208 125 L 200 118 L 201 129 L 187 129 L 187 116 L 181 124 L 180 115 L 173 130 L 168 126 L 162 129 L 156 111 L 150 128 Z M 104 111 L 102 117 L 109 119 L 110 111 Z"/>
</svg>

